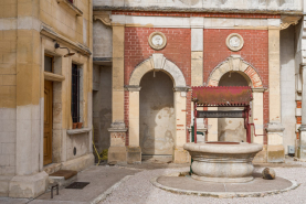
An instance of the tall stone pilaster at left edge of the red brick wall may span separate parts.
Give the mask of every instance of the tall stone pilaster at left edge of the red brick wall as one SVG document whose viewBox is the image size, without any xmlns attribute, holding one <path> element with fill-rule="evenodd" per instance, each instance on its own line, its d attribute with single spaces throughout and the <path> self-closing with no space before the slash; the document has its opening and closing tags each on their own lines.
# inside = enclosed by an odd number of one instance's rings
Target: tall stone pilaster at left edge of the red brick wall
<svg viewBox="0 0 306 204">
<path fill-rule="evenodd" d="M 108 149 L 108 162 L 126 162 L 126 125 L 124 122 L 124 47 L 125 26 L 116 23 L 113 25 L 113 69 L 112 69 L 112 121 L 110 148 Z M 113 142 L 112 142 L 113 141 Z M 120 141 L 120 142 L 119 142 Z"/>
</svg>

